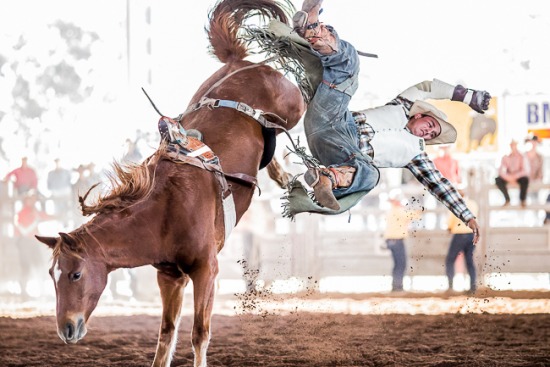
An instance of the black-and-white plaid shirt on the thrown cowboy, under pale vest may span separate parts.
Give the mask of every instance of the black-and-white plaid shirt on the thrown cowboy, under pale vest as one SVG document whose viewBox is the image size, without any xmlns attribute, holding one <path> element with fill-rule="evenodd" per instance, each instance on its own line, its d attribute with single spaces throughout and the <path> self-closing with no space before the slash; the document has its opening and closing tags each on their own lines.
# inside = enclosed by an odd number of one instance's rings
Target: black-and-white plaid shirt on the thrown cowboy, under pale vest
<svg viewBox="0 0 550 367">
<path fill-rule="evenodd" d="M 397 97 L 388 104 L 401 105 L 406 111 L 410 111 L 413 102 Z M 367 118 L 364 113 L 352 112 L 355 124 L 357 125 L 357 134 L 359 138 L 359 149 L 364 154 L 368 154 L 371 158 L 374 157 L 374 149 L 370 144 L 374 138 L 374 130 L 367 123 Z M 457 218 L 464 223 L 468 223 L 470 219 L 475 218 L 472 212 L 466 206 L 464 199 L 460 196 L 455 187 L 449 180 L 441 175 L 439 170 L 425 152 L 414 157 L 405 167 L 416 177 L 416 179 L 424 185 L 426 190 L 432 194 L 437 200 L 442 202 Z"/>
</svg>

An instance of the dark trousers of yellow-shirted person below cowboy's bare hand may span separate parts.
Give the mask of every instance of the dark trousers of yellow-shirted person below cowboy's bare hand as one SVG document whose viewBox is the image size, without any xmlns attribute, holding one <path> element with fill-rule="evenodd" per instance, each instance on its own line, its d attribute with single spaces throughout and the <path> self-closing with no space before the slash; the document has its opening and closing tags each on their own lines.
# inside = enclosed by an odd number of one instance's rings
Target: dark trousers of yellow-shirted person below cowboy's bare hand
<svg viewBox="0 0 550 367">
<path fill-rule="evenodd" d="M 449 252 L 447 252 L 447 258 L 445 259 L 445 271 L 447 273 L 447 279 L 449 281 L 449 289 L 453 286 L 453 278 L 455 276 L 455 261 L 458 254 L 464 253 L 464 261 L 466 262 L 466 269 L 470 275 L 470 291 L 475 291 L 476 285 L 476 267 L 474 264 L 474 250 L 475 245 L 473 243 L 473 233 L 457 233 L 453 235 L 451 245 L 449 246 Z"/>
</svg>

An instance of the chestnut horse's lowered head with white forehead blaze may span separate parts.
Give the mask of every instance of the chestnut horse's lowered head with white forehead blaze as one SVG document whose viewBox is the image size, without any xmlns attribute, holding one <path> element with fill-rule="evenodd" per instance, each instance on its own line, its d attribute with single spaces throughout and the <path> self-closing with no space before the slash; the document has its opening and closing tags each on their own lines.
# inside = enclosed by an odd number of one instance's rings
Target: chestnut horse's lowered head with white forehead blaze
<svg viewBox="0 0 550 367">
<path fill-rule="evenodd" d="M 88 256 L 77 237 L 59 235 L 36 238 L 53 250 L 50 276 L 57 300 L 57 333 L 65 343 L 74 344 L 86 335 L 86 322 L 107 285 L 109 270 Z"/>
</svg>

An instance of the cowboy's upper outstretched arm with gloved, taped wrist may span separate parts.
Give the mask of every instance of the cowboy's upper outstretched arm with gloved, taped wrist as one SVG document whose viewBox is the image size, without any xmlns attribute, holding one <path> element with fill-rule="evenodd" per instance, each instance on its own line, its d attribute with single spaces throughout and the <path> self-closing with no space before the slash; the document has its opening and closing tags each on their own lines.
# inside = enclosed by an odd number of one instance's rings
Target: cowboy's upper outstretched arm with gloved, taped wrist
<svg viewBox="0 0 550 367">
<path fill-rule="evenodd" d="M 403 91 L 400 95 L 410 101 L 426 99 L 450 99 L 467 104 L 473 110 L 484 113 L 489 108 L 491 95 L 486 91 L 451 85 L 439 79 L 426 80 Z"/>
</svg>

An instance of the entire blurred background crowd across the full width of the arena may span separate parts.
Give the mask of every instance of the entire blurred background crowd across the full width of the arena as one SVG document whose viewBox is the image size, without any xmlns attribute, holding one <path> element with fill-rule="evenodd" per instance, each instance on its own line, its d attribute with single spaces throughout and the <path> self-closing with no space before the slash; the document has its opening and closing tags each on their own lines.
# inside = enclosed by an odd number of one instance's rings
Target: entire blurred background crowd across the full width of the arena
<svg viewBox="0 0 550 367">
<path fill-rule="evenodd" d="M 154 139 L 154 137 L 152 138 Z M 507 189 L 516 188 L 519 192 L 517 207 L 527 209 L 528 204 L 536 204 L 539 200 L 537 188 L 541 187 L 544 178 L 544 159 L 538 151 L 540 139 L 537 136 L 528 136 L 524 141 L 512 141 L 510 153 L 502 157 L 495 164 L 494 178 L 495 191 L 498 188 L 503 194 L 502 205 L 508 207 L 515 203 L 510 199 Z M 127 139 L 124 154 L 120 161 L 139 163 L 143 160 L 140 144 L 137 140 Z M 518 146 L 521 146 L 521 150 Z M 432 155 L 436 167 L 455 184 L 461 193 L 467 198 L 473 210 L 478 212 L 478 205 L 467 196 L 467 176 L 461 168 L 461 163 L 453 156 L 453 146 L 446 145 L 434 150 Z M 287 170 L 296 174 L 300 167 L 290 162 L 289 156 L 284 159 Z M 93 200 L 102 190 L 107 189 L 105 182 L 108 170 L 98 170 L 93 162 L 79 164 L 76 167 L 66 167 L 60 158 L 55 158 L 50 163 L 50 169 L 44 175 L 39 175 L 37 170 L 29 163 L 29 157 L 22 157 L 20 164 L 14 167 L 3 177 L 1 183 L 1 213 L 4 219 L 2 225 L 2 274 L 3 285 L 0 284 L 0 294 L 18 294 L 25 299 L 37 296 L 40 292 L 32 291 L 31 284 L 37 279 L 44 279 L 49 266 L 49 252 L 39 246 L 34 235 L 51 235 L 62 230 L 72 230 L 87 218 L 79 211 L 78 197 L 83 196 L 88 189 L 99 183 L 100 185 L 91 191 L 88 200 Z M 265 177 L 263 177 L 265 176 Z M 260 269 L 262 256 L 258 238 L 266 235 L 266 231 L 274 231 L 272 221 L 269 218 L 279 216 L 274 210 L 273 202 L 279 202 L 280 192 L 276 186 L 263 175 L 262 198 L 255 198 L 250 213 L 243 218 L 242 223 L 236 228 L 237 237 L 243 241 L 242 268 L 247 291 L 257 288 L 261 278 Z M 402 176 L 402 184 L 407 183 L 406 175 Z M 529 189 L 529 185 L 532 188 Z M 537 186 L 538 185 L 538 186 Z M 383 185 L 386 188 L 388 186 Z M 533 187 L 535 189 L 533 190 Z M 42 189 L 41 189 L 42 188 Z M 266 199 L 267 197 L 267 199 Z M 550 196 L 549 196 L 550 198 Z M 386 208 L 387 213 L 378 222 L 376 230 L 381 230 L 388 250 L 388 255 L 393 261 L 393 268 L 388 269 L 387 275 L 392 277 L 393 292 L 402 292 L 404 278 L 407 274 L 408 252 L 407 238 L 411 231 L 426 225 L 425 215 L 419 210 L 425 203 L 422 197 L 411 198 L 405 195 L 399 185 L 393 186 L 386 192 L 372 193 L 364 199 L 359 206 L 363 208 Z M 436 205 L 440 205 L 437 204 Z M 514 204 L 515 205 L 515 204 Z M 369 220 L 366 216 L 366 221 Z M 550 222 L 547 214 L 540 225 Z M 372 218 L 371 218 L 372 219 Z M 6 224 L 9 222 L 10 224 Z M 262 224 L 263 223 L 263 224 Z M 265 223 L 271 223 L 267 225 Z M 365 231 L 369 231 L 365 223 Z M 434 228 L 446 229 L 452 234 L 445 259 L 445 274 L 448 279 L 448 290 L 453 291 L 454 277 L 456 273 L 468 277 L 469 288 L 466 291 L 475 293 L 478 285 L 474 264 L 475 246 L 472 244 L 472 233 L 469 228 L 461 225 L 452 214 L 441 210 L 437 214 Z M 129 293 L 117 291 L 117 281 L 127 280 L 130 284 Z M 109 290 L 112 296 L 117 293 L 137 294 L 134 272 L 125 270 L 113 274 Z M 11 286 L 6 286 L 11 282 Z M 36 288 L 36 287 L 35 287 Z M 40 288 L 40 287 L 38 287 Z M 118 294 L 120 295 L 120 294 Z"/>
</svg>

